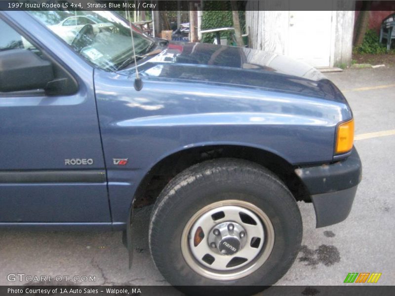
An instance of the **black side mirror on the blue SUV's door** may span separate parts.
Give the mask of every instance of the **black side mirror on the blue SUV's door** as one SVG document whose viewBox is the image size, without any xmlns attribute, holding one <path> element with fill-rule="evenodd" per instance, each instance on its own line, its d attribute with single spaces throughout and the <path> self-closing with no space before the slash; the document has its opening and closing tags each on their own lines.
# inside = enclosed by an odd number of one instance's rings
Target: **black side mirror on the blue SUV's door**
<svg viewBox="0 0 395 296">
<path fill-rule="evenodd" d="M 0 92 L 44 89 L 52 64 L 26 49 L 0 51 Z"/>
</svg>

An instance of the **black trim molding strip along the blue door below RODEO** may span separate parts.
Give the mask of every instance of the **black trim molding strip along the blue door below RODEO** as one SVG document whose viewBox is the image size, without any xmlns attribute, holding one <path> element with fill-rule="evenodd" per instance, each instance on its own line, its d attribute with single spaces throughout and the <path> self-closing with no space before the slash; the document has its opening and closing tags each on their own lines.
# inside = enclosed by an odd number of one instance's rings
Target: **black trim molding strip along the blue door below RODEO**
<svg viewBox="0 0 395 296">
<path fill-rule="evenodd" d="M 0 183 L 104 183 L 104 170 L 0 171 Z"/>
</svg>

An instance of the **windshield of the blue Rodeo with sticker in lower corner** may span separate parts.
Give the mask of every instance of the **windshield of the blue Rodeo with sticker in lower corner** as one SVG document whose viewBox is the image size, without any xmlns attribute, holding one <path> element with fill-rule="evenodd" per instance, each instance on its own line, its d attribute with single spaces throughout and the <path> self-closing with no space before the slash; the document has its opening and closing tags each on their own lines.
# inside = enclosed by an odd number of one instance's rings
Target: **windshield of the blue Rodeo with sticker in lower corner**
<svg viewBox="0 0 395 296">
<path fill-rule="evenodd" d="M 110 11 L 29 11 L 49 30 L 66 41 L 79 55 L 104 70 L 116 71 L 133 61 L 127 21 Z M 133 30 L 137 30 L 134 26 Z M 136 55 L 154 43 L 133 31 Z"/>
</svg>

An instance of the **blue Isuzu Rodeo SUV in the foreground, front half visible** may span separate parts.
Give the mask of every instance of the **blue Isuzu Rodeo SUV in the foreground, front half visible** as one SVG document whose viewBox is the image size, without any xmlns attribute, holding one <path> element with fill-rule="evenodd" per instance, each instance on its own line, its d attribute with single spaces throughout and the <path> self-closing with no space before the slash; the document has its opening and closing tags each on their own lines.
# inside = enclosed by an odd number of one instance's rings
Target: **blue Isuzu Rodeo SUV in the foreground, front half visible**
<svg viewBox="0 0 395 296">
<path fill-rule="evenodd" d="M 119 230 L 130 255 L 133 209 L 154 204 L 147 235 L 166 280 L 242 295 L 294 262 L 297 202 L 313 203 L 317 227 L 347 218 L 354 117 L 320 72 L 80 14 L 0 11 L 0 227 Z M 100 23 L 83 24 L 91 15 Z"/>
</svg>

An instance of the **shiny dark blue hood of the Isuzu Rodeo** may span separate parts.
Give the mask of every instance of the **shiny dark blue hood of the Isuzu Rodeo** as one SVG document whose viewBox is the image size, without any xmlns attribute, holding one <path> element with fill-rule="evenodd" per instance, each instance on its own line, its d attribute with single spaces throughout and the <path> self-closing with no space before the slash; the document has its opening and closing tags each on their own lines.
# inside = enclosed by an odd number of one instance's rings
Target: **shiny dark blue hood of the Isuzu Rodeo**
<svg viewBox="0 0 395 296">
<path fill-rule="evenodd" d="M 158 55 L 139 64 L 139 73 L 143 78 L 222 83 L 345 101 L 337 87 L 308 64 L 250 48 L 169 42 Z"/>
</svg>

